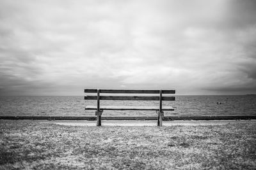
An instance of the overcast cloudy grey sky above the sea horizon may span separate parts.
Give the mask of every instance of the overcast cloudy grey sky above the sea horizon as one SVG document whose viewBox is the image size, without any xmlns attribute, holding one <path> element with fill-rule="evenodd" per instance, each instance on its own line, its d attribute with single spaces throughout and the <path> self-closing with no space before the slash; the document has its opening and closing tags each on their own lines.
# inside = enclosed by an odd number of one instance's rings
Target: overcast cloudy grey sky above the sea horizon
<svg viewBox="0 0 256 170">
<path fill-rule="evenodd" d="M 255 0 L 0 0 L 0 96 L 256 94 Z"/>
</svg>

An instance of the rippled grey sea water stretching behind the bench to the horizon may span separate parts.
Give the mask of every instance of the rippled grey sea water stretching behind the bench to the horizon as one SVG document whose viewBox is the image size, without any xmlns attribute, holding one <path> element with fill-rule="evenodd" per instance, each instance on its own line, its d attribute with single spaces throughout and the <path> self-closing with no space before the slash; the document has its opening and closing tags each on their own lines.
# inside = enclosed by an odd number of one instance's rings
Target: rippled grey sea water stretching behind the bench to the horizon
<svg viewBox="0 0 256 170">
<path fill-rule="evenodd" d="M 220 102 L 221 104 L 216 104 Z M 83 96 L 17 96 L 0 97 L 0 116 L 94 116 L 84 110 L 97 101 Z M 101 101 L 101 105 L 159 106 L 158 101 Z M 175 111 L 166 116 L 256 115 L 256 96 L 176 96 L 175 101 L 163 101 Z M 156 111 L 104 111 L 102 116 L 156 116 Z"/>
</svg>

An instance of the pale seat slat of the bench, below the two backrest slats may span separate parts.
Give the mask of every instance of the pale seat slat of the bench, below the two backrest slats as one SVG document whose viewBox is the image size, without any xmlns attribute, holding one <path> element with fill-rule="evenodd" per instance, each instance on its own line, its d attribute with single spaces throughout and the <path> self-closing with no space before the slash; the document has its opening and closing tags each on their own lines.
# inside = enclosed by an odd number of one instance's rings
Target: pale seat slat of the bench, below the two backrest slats
<svg viewBox="0 0 256 170">
<path fill-rule="evenodd" d="M 85 110 L 97 110 L 97 106 L 86 106 Z M 159 110 L 159 106 L 100 106 L 100 110 Z M 164 106 L 162 110 L 174 110 L 172 106 Z"/>
</svg>

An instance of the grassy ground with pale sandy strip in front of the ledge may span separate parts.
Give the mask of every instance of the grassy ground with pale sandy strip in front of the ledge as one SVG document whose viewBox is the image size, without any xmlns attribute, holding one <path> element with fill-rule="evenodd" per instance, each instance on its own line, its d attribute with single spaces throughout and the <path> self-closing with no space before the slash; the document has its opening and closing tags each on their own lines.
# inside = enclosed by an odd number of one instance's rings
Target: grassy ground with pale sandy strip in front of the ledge
<svg viewBox="0 0 256 170">
<path fill-rule="evenodd" d="M 95 124 L 0 120 L 0 169 L 256 168 L 255 120 Z"/>
</svg>

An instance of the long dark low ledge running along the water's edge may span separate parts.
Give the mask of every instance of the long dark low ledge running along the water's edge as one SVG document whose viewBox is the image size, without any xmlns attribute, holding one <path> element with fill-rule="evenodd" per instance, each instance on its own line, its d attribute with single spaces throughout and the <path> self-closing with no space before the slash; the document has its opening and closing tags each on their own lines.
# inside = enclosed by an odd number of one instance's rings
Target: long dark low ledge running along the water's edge
<svg viewBox="0 0 256 170">
<path fill-rule="evenodd" d="M 0 117 L 2 120 L 96 120 L 97 117 Z M 250 120 L 256 116 L 166 116 L 164 121 L 172 120 Z M 157 117 L 101 117 L 101 120 L 157 120 Z"/>
</svg>

